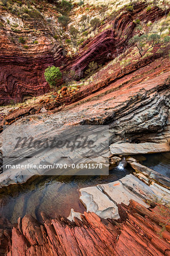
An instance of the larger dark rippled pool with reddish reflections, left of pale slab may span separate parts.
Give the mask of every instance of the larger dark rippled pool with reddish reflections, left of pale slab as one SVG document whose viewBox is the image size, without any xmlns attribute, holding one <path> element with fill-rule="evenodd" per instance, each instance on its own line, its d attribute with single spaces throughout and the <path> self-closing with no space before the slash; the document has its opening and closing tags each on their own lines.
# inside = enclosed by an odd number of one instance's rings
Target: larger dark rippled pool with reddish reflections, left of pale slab
<svg viewBox="0 0 170 256">
<path fill-rule="evenodd" d="M 30 213 L 38 220 L 40 212 L 51 217 L 69 216 L 70 209 L 85 210 L 79 201 L 79 188 L 116 181 L 129 174 L 111 168 L 109 176 L 39 176 L 25 184 L 10 185 L 0 190 L 0 216 L 16 222 L 18 217 Z"/>
</svg>

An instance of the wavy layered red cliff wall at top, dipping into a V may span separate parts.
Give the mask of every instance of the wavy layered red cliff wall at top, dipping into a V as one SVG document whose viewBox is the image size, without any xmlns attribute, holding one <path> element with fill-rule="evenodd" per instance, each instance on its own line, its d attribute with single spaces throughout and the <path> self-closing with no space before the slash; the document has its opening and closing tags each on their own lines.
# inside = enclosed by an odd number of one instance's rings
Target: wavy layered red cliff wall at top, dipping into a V
<svg viewBox="0 0 170 256">
<path fill-rule="evenodd" d="M 49 85 L 44 78 L 48 66 L 60 67 L 62 72 L 74 70 L 80 79 L 85 76 L 84 72 L 92 61 L 105 65 L 120 55 L 128 48 L 129 39 L 135 33 L 137 24 L 134 20 L 138 18 L 147 24 L 164 16 L 165 10 L 152 7 L 147 11 L 147 6 L 146 3 L 138 3 L 134 5 L 133 12 L 124 7 L 112 18 L 105 18 L 103 24 L 97 25 L 96 35 L 84 40 L 71 57 L 67 55 L 67 34 L 62 38 L 56 36 L 59 14 L 53 5 L 44 4 L 44 16 L 39 13 L 37 18 L 31 18 L 28 14 L 17 16 L 14 11 L 9 11 L 10 8 L 1 7 L 0 105 L 22 102 L 48 92 Z M 26 9 L 24 5 L 20 8 Z M 82 13 L 86 13 L 85 7 L 82 8 Z M 76 11 L 73 9 L 72 12 L 75 22 Z"/>
</svg>

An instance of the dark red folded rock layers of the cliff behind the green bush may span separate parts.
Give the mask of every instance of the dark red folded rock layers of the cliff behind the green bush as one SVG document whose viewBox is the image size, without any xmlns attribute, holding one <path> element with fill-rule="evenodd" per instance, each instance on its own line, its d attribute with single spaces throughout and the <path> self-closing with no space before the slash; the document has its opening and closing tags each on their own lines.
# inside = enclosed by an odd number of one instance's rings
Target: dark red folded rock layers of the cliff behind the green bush
<svg viewBox="0 0 170 256">
<path fill-rule="evenodd" d="M 17 43 L 18 39 L 16 43 L 11 42 L 11 38 L 25 35 L 31 38 L 32 35 L 27 30 L 24 31 L 25 24 L 33 28 L 31 20 L 20 20 L 23 23 L 23 31 L 19 33 L 0 27 L 0 105 L 10 104 L 11 101 L 20 102 L 27 97 L 48 92 L 49 85 L 44 79 L 44 71 L 48 66 L 56 65 L 61 67 L 62 71 L 74 69 L 82 77 L 92 61 L 105 64 L 109 60 L 108 54 L 114 58 L 115 54 L 122 53 L 134 34 L 136 25 L 133 20 L 137 16 L 141 21 L 148 22 L 164 15 L 164 11 L 158 7 L 147 13 L 146 7 L 145 3 L 139 3 L 134 7 L 133 13 L 127 13 L 124 8 L 123 14 L 117 14 L 118 17 L 113 20 L 112 29 L 105 30 L 94 39 L 88 40 L 80 49 L 78 56 L 74 56 L 73 59 L 65 56 L 66 49 L 53 39 L 52 32 L 42 22 L 36 24 L 36 30 L 40 30 L 39 36 L 36 35 L 39 44 L 32 44 L 29 49 L 24 49 Z M 0 11 L 3 17 L 8 17 L 5 10 Z M 125 38 L 125 35 L 128 36 Z"/>
</svg>

